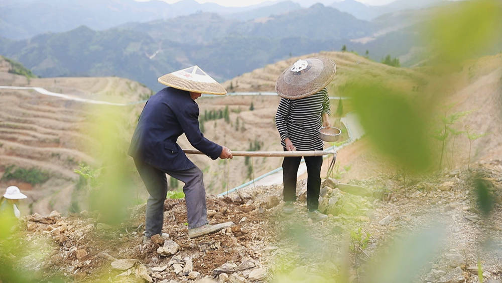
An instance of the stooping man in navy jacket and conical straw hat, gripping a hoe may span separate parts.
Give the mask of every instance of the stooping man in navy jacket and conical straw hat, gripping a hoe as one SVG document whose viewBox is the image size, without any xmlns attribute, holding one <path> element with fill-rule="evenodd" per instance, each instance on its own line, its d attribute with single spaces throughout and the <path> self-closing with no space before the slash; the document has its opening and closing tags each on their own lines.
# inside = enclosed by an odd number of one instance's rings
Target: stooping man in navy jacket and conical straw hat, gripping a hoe
<svg viewBox="0 0 502 283">
<path fill-rule="evenodd" d="M 162 232 L 167 194 L 166 174 L 185 183 L 183 192 L 190 238 L 229 227 L 233 223 L 208 224 L 202 171 L 176 143 L 184 133 L 193 147 L 211 159 L 232 158 L 227 147 L 206 139 L 200 132 L 199 107 L 195 103 L 201 93 L 225 95 L 226 90 L 198 66 L 161 76 L 159 82 L 169 87 L 148 100 L 129 148 L 129 155 L 134 158 L 136 168 L 150 194 L 145 239 Z"/>
</svg>

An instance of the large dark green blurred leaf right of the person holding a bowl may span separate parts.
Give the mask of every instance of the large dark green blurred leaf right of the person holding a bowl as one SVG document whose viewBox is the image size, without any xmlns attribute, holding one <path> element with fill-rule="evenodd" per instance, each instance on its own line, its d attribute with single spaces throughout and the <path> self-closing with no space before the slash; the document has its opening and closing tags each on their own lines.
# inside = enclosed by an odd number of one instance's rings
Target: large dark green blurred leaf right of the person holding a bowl
<svg viewBox="0 0 502 283">
<path fill-rule="evenodd" d="M 378 83 L 347 87 L 361 125 L 374 145 L 412 171 L 431 164 L 427 114 L 405 93 Z"/>
</svg>

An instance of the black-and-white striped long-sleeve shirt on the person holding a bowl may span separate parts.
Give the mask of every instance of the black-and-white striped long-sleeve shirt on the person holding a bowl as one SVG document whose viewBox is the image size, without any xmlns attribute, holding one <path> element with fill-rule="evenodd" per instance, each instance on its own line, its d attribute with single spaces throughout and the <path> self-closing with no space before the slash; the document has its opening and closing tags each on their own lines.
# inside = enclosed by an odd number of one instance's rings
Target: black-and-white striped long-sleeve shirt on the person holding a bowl
<svg viewBox="0 0 502 283">
<path fill-rule="evenodd" d="M 282 98 L 276 113 L 276 127 L 281 144 L 289 138 L 297 150 L 318 150 L 323 147 L 319 137 L 322 114 L 330 114 L 328 90 L 323 88 L 312 96 L 291 100 Z"/>
</svg>

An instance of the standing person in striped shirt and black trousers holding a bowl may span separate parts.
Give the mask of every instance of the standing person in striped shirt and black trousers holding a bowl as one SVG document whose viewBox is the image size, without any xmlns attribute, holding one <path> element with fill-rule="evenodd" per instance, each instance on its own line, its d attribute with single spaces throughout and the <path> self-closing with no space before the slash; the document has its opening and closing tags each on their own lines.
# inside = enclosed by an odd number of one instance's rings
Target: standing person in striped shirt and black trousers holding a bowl
<svg viewBox="0 0 502 283">
<path fill-rule="evenodd" d="M 285 151 L 323 150 L 319 136 L 321 126 L 330 127 L 329 97 L 326 86 L 336 72 L 333 61 L 324 57 L 298 60 L 287 68 L 276 82 L 281 97 L 276 113 L 276 126 Z M 325 219 L 319 206 L 321 186 L 321 156 L 305 156 L 307 165 L 307 209 L 310 217 Z M 284 206 L 285 213 L 293 213 L 296 201 L 296 178 L 301 157 L 284 157 Z"/>
</svg>

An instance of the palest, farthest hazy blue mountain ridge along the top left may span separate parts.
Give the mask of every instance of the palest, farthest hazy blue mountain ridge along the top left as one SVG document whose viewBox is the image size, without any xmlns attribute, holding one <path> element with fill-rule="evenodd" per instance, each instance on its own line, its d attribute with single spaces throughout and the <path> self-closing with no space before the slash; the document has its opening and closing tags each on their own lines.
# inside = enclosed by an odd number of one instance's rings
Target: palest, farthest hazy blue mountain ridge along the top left
<svg viewBox="0 0 502 283">
<path fill-rule="evenodd" d="M 0 37 L 26 39 L 46 32 L 65 32 L 85 25 L 95 30 L 109 29 L 128 22 L 148 22 L 198 12 L 242 13 L 270 5 L 223 7 L 182 0 L 167 4 L 160 0 L 23 0 L 0 4 Z M 279 7 L 272 8 L 273 14 Z M 267 10 L 266 8 L 263 8 Z M 256 13 L 256 12 L 255 12 Z"/>
</svg>

